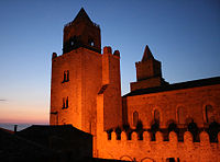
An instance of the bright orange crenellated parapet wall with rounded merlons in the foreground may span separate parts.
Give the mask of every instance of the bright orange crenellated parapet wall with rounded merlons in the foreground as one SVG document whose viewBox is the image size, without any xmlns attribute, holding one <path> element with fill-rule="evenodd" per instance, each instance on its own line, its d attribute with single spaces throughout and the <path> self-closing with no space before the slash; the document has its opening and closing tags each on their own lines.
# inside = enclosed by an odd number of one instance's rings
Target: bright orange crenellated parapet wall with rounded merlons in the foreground
<svg viewBox="0 0 220 162">
<path fill-rule="evenodd" d="M 174 158 L 180 162 L 209 162 L 220 161 L 220 132 L 218 142 L 210 142 L 206 131 L 199 134 L 200 142 L 194 142 L 189 131 L 184 134 L 184 141 L 178 141 L 177 134 L 170 131 L 168 141 L 164 141 L 161 131 L 155 135 L 155 141 L 151 141 L 148 131 L 143 132 L 143 140 L 139 140 L 138 134 L 131 135 L 128 140 L 127 134 L 121 132 L 121 139 L 117 140 L 117 134 L 111 132 L 111 140 L 108 134 L 102 134 L 102 139 L 98 138 L 98 157 L 129 161 L 166 161 Z"/>
</svg>

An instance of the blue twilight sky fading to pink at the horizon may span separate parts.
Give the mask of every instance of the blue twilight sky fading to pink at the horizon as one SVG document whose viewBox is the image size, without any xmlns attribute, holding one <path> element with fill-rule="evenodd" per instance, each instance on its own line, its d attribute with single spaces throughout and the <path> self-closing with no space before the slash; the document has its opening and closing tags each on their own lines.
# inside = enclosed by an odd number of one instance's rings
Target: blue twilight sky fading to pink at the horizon
<svg viewBox="0 0 220 162">
<path fill-rule="evenodd" d="M 0 123 L 48 123 L 52 53 L 81 7 L 121 53 L 122 94 L 146 44 L 169 83 L 220 76 L 219 0 L 1 0 Z"/>
</svg>

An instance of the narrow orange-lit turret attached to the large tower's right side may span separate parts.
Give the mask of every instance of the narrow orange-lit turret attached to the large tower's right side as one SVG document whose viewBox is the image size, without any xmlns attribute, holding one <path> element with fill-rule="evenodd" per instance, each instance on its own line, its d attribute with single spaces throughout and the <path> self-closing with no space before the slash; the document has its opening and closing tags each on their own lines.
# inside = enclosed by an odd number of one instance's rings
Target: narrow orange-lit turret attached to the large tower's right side
<svg viewBox="0 0 220 162">
<path fill-rule="evenodd" d="M 103 94 L 103 129 L 122 125 L 120 54 L 111 53 L 111 47 L 103 48 L 102 55 L 102 85 Z M 99 112 L 98 112 L 99 113 Z"/>
</svg>

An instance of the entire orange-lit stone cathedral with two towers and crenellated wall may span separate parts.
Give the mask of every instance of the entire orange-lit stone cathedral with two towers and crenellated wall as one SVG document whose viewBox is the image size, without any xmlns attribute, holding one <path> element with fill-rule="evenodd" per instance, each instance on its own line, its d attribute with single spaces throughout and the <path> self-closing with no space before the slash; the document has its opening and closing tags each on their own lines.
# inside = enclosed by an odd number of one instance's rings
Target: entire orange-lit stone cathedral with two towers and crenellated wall
<svg viewBox="0 0 220 162">
<path fill-rule="evenodd" d="M 101 49 L 100 26 L 81 9 L 52 56 L 50 125 L 92 135 L 96 158 L 220 161 L 220 77 L 169 84 L 148 46 L 135 68 L 121 96 L 120 51 Z"/>
</svg>

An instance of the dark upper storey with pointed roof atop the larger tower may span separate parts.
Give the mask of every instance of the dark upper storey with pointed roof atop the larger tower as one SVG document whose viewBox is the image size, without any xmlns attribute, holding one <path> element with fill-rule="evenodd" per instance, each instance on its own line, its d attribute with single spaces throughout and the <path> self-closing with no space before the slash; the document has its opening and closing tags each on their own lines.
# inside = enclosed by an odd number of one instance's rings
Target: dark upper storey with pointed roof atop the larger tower
<svg viewBox="0 0 220 162">
<path fill-rule="evenodd" d="M 82 8 L 75 20 L 64 27 L 63 54 L 79 47 L 101 53 L 99 25 L 89 19 Z"/>
</svg>

